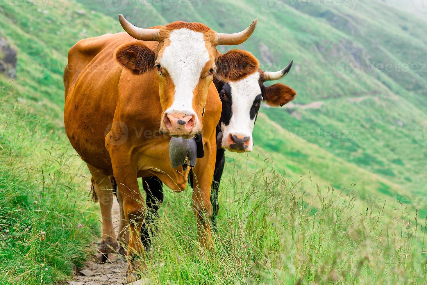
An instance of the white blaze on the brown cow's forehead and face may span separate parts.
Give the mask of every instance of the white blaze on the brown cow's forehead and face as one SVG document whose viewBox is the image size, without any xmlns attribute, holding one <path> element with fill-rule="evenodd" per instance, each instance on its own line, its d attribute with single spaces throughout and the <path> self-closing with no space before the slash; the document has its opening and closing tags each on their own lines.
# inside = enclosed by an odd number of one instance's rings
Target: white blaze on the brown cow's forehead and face
<svg viewBox="0 0 427 285">
<path fill-rule="evenodd" d="M 193 91 L 200 79 L 200 73 L 209 53 L 201 32 L 190 29 L 176 29 L 170 33 L 170 45 L 164 49 L 159 63 L 170 74 L 175 85 L 175 99 L 166 112 L 193 110 Z"/>
</svg>

